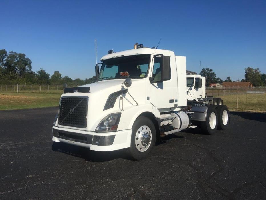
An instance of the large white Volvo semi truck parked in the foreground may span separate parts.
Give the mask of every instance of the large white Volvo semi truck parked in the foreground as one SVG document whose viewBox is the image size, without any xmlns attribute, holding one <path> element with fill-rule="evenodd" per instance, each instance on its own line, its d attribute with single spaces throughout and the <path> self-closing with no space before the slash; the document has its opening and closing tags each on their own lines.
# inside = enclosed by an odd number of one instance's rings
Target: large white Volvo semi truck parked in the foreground
<svg viewBox="0 0 266 200">
<path fill-rule="evenodd" d="M 110 50 L 100 61 L 95 83 L 65 88 L 53 123 L 54 142 L 94 151 L 128 148 L 140 160 L 168 134 L 197 126 L 213 134 L 229 125 L 225 105 L 187 106 L 184 56 L 134 45 Z"/>
</svg>

